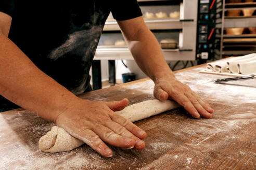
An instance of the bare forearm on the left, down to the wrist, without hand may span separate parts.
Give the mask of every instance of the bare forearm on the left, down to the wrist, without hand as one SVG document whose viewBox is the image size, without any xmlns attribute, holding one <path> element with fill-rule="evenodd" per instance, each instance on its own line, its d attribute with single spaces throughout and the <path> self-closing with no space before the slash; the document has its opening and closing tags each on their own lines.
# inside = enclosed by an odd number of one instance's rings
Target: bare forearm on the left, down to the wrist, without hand
<svg viewBox="0 0 256 170">
<path fill-rule="evenodd" d="M 1 33 L 0 94 L 50 121 L 54 121 L 70 101 L 80 100 L 44 74 Z"/>
</svg>

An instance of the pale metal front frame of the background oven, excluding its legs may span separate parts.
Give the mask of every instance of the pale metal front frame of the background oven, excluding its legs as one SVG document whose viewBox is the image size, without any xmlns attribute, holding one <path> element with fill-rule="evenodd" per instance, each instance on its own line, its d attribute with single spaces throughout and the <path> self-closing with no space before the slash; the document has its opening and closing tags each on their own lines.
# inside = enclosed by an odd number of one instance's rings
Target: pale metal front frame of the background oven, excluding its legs
<svg viewBox="0 0 256 170">
<path fill-rule="evenodd" d="M 167 2 L 166 0 L 158 0 Z M 144 2 L 157 2 L 156 0 L 138 0 L 139 5 Z M 168 2 L 180 2 L 180 19 L 156 19 L 145 20 L 150 30 L 179 30 L 178 49 L 163 49 L 165 60 L 195 60 L 196 59 L 196 29 L 197 29 L 197 0 L 169 0 Z M 119 31 L 116 21 L 107 21 L 104 32 Z M 95 60 L 133 60 L 132 54 L 127 48 L 98 48 Z"/>
</svg>

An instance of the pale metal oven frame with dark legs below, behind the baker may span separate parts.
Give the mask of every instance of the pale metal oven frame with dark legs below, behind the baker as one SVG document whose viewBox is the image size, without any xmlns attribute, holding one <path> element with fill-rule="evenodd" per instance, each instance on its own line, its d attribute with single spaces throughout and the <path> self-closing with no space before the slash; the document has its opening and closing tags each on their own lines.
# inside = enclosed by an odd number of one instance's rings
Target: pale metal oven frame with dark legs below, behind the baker
<svg viewBox="0 0 256 170">
<path fill-rule="evenodd" d="M 151 31 L 178 31 L 178 49 L 162 49 L 167 61 L 192 61 L 196 60 L 196 34 L 197 34 L 197 3 L 198 0 L 138 0 L 140 6 L 145 3 L 178 3 L 180 4 L 180 18 L 178 19 L 153 19 L 145 20 Z M 107 20 L 103 34 L 113 31 L 120 31 L 118 23 L 114 20 Z M 121 32 L 120 32 L 121 33 Z M 127 47 L 98 47 L 93 70 L 93 89 L 101 88 L 100 60 L 108 60 L 109 63 L 109 83 L 116 83 L 115 60 L 134 60 Z"/>
</svg>

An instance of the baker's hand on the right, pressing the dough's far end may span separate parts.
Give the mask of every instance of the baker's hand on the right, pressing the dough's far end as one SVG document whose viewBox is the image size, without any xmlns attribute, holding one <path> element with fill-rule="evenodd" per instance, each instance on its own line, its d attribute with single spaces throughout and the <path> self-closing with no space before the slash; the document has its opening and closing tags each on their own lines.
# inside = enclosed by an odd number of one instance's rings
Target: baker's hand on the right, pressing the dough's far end
<svg viewBox="0 0 256 170">
<path fill-rule="evenodd" d="M 186 84 L 172 74 L 165 74 L 155 81 L 154 95 L 160 101 L 172 99 L 183 106 L 194 118 L 212 118 L 213 109 Z"/>
</svg>

